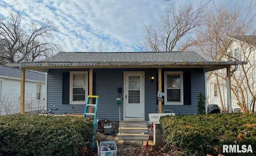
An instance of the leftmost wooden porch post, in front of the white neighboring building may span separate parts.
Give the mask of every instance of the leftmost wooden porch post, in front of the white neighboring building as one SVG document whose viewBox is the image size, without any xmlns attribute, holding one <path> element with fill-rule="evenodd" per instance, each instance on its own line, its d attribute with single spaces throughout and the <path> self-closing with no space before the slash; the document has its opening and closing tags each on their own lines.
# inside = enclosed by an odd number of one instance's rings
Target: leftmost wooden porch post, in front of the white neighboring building
<svg viewBox="0 0 256 156">
<path fill-rule="evenodd" d="M 25 113 L 25 69 L 21 68 L 20 74 L 20 114 Z"/>
</svg>

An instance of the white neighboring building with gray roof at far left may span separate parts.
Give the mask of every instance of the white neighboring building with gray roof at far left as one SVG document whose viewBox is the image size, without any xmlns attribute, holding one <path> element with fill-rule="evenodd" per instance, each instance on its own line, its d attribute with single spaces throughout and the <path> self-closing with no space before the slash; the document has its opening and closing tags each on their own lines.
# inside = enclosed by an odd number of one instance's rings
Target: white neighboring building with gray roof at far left
<svg viewBox="0 0 256 156">
<path fill-rule="evenodd" d="M 0 65 L 0 115 L 20 113 L 20 76 L 20 69 Z M 26 113 L 44 110 L 45 92 L 45 75 L 26 71 Z"/>
</svg>

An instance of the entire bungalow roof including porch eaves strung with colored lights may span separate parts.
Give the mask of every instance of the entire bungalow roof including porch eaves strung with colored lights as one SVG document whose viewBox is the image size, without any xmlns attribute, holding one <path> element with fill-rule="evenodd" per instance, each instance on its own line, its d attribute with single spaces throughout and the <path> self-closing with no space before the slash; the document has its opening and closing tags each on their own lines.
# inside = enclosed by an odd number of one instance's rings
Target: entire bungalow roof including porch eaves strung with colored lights
<svg viewBox="0 0 256 156">
<path fill-rule="evenodd" d="M 59 52 L 40 62 L 7 64 L 40 72 L 61 68 L 204 68 L 204 72 L 247 64 L 208 61 L 196 52 Z"/>
</svg>

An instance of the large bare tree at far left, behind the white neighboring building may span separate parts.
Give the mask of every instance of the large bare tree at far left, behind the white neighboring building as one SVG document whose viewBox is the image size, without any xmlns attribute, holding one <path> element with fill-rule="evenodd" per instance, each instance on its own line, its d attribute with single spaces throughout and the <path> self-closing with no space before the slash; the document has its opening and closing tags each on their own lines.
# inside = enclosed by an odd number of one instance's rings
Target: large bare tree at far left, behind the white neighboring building
<svg viewBox="0 0 256 156">
<path fill-rule="evenodd" d="M 25 23 L 22 12 L 10 11 L 0 19 L 0 63 L 29 62 L 49 58 L 61 50 L 54 42 L 58 28 L 48 19 Z"/>
</svg>

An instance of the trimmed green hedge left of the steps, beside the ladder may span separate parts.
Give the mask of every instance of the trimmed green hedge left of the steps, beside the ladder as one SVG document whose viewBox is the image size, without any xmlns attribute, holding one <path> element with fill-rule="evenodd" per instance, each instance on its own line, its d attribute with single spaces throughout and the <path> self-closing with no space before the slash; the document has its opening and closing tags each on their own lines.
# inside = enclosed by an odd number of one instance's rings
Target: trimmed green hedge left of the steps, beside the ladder
<svg viewBox="0 0 256 156">
<path fill-rule="evenodd" d="M 83 155 L 92 143 L 93 124 L 74 116 L 0 116 L 0 155 Z"/>
</svg>

